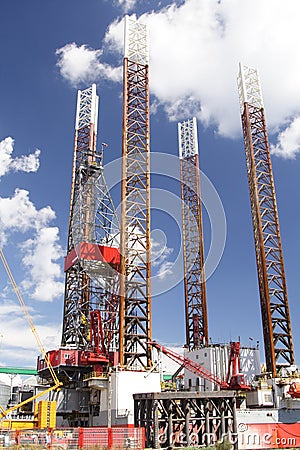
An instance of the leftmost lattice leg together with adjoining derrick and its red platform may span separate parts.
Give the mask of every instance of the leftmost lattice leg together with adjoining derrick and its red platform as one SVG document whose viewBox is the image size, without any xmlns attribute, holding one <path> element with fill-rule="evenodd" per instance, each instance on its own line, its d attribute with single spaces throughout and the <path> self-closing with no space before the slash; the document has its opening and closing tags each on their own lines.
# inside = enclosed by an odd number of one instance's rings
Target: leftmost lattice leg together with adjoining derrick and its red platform
<svg viewBox="0 0 300 450">
<path fill-rule="evenodd" d="M 118 347 L 118 222 L 96 150 L 96 85 L 78 91 L 62 346 L 107 355 Z M 109 263 L 109 264 L 108 264 Z"/>
</svg>

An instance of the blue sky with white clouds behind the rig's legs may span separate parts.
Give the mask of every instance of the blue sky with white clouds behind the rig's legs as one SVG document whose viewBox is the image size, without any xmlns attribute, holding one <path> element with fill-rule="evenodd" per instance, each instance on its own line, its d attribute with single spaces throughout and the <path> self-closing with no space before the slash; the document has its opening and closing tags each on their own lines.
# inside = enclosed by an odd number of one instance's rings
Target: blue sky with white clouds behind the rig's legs
<svg viewBox="0 0 300 450">
<path fill-rule="evenodd" d="M 296 0 L 284 8 L 279 0 L 1 1 L 0 239 L 48 348 L 59 345 L 61 333 L 76 91 L 97 83 L 98 146 L 109 145 L 105 162 L 112 163 L 121 156 L 122 18 L 136 13 L 150 33 L 151 151 L 176 156 L 177 121 L 195 115 L 201 170 L 225 212 L 224 253 L 207 281 L 209 334 L 214 342 L 240 336 L 249 344 L 251 337 L 262 347 L 236 87 L 239 61 L 259 68 L 299 361 L 299 9 Z M 155 204 L 152 214 L 160 242 L 153 336 L 182 345 L 179 185 L 176 164 L 175 179 L 163 164 L 152 185 L 167 195 L 167 206 Z M 113 195 L 118 205 L 118 187 Z M 218 209 L 214 202 L 208 209 Z M 210 223 L 204 213 L 206 253 L 220 224 L 221 216 Z M 3 268 L 0 286 L 0 364 L 34 366 L 38 349 Z"/>
</svg>

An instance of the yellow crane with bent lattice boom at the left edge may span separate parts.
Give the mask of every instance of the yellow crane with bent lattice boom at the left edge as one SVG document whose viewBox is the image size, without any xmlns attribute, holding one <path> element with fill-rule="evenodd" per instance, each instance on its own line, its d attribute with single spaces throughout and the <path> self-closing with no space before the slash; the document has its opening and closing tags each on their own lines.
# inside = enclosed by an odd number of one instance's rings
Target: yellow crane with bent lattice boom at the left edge
<svg viewBox="0 0 300 450">
<path fill-rule="evenodd" d="M 53 380 L 53 383 L 54 383 L 48 389 L 46 389 L 46 390 L 44 390 L 42 392 L 39 392 L 36 395 L 33 395 L 32 397 L 24 400 L 21 403 L 18 403 L 17 405 L 12 406 L 11 408 L 4 409 L 0 405 L 0 409 L 1 409 L 0 419 L 1 419 L 1 418 L 5 417 L 7 414 L 9 414 L 10 412 L 15 411 L 16 409 L 22 407 L 23 405 L 26 405 L 26 403 L 32 402 L 33 400 L 36 400 L 37 398 L 42 397 L 43 395 L 47 394 L 50 391 L 59 390 L 60 387 L 62 386 L 62 383 L 57 378 L 57 375 L 56 375 L 56 373 L 55 373 L 55 371 L 54 371 L 54 369 L 53 369 L 53 367 L 51 365 L 51 362 L 50 362 L 50 360 L 48 358 L 46 350 L 45 350 L 45 348 L 44 348 L 44 346 L 42 344 L 42 341 L 41 341 L 41 339 L 40 339 L 40 337 L 38 335 L 38 332 L 37 332 L 37 330 L 35 328 L 35 325 L 34 325 L 33 320 L 32 320 L 32 318 L 31 318 L 31 316 L 29 314 L 29 311 L 28 311 L 28 309 L 27 309 L 27 307 L 26 307 L 26 305 L 24 303 L 24 300 L 23 300 L 23 297 L 21 295 L 21 292 L 20 292 L 20 290 L 19 290 L 19 288 L 18 288 L 18 286 L 17 286 L 17 284 L 15 282 L 15 279 L 13 277 L 13 274 L 12 274 L 11 270 L 10 270 L 8 262 L 7 262 L 7 260 L 6 260 L 5 256 L 4 256 L 3 249 L 1 247 L 0 247 L 0 259 L 1 259 L 1 261 L 3 263 L 3 266 L 4 266 L 5 270 L 6 270 L 6 273 L 8 275 L 8 278 L 9 278 L 10 282 L 11 282 L 13 290 L 15 291 L 15 294 L 16 294 L 18 300 L 19 300 L 21 308 L 22 308 L 22 310 L 23 310 L 23 312 L 25 314 L 25 317 L 26 317 L 26 320 L 27 320 L 27 322 L 29 324 L 30 330 L 31 330 L 32 334 L 35 337 L 35 340 L 36 340 L 36 342 L 38 344 L 39 350 L 42 353 L 43 358 L 45 359 L 45 362 L 46 362 L 46 364 L 48 366 L 49 372 L 50 372 L 50 374 L 52 376 L 52 380 Z"/>
</svg>

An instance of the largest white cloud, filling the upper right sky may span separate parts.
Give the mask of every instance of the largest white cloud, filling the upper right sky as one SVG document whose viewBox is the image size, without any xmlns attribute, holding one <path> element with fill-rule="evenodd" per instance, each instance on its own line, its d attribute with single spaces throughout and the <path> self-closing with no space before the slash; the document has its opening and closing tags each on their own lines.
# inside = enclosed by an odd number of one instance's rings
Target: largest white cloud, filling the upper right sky
<svg viewBox="0 0 300 450">
<path fill-rule="evenodd" d="M 258 67 L 267 122 L 278 130 L 300 112 L 300 3 L 185 0 L 144 14 L 150 32 L 150 87 L 170 120 L 196 115 L 226 137 L 241 134 L 238 63 Z M 123 23 L 103 49 L 123 52 Z M 288 49 L 288 51 L 287 51 Z"/>
</svg>

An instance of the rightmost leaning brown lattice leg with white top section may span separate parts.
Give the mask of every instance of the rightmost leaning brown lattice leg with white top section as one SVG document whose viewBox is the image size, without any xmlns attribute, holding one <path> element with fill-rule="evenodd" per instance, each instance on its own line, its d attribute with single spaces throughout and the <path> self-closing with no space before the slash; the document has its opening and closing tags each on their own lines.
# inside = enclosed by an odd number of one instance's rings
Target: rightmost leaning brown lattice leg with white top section
<svg viewBox="0 0 300 450">
<path fill-rule="evenodd" d="M 267 371 L 295 363 L 275 187 L 258 72 L 240 64 L 238 88 Z"/>
</svg>

